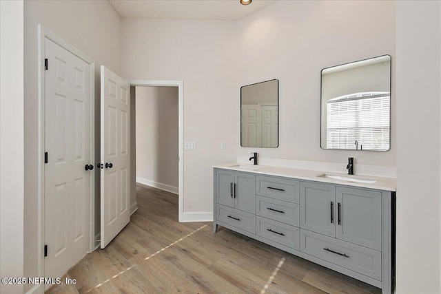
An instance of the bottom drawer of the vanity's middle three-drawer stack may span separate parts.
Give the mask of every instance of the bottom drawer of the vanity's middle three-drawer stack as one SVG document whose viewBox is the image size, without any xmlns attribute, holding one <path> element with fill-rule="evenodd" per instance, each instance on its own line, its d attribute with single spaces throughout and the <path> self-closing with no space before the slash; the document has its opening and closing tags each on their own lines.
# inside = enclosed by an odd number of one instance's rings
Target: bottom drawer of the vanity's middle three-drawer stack
<svg viewBox="0 0 441 294">
<path fill-rule="evenodd" d="M 271 241 L 299 250 L 300 235 L 298 227 L 289 226 L 275 220 L 268 220 L 257 216 L 256 231 L 257 235 Z"/>
</svg>

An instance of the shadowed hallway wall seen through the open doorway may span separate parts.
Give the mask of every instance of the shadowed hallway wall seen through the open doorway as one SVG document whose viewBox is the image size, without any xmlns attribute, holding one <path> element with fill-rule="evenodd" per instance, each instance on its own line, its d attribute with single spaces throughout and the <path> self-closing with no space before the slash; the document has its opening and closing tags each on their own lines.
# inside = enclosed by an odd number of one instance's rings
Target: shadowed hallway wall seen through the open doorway
<svg viewBox="0 0 441 294">
<path fill-rule="evenodd" d="M 136 181 L 178 193 L 178 87 L 136 87 Z"/>
</svg>

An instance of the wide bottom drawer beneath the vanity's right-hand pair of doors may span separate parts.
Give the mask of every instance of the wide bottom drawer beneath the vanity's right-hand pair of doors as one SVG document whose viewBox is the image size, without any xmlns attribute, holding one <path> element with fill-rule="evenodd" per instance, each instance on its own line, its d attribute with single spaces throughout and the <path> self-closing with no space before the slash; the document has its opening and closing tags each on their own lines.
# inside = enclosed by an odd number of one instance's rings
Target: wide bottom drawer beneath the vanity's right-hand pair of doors
<svg viewBox="0 0 441 294">
<path fill-rule="evenodd" d="M 381 280 L 381 252 L 300 230 L 300 251 L 351 271 Z"/>
</svg>

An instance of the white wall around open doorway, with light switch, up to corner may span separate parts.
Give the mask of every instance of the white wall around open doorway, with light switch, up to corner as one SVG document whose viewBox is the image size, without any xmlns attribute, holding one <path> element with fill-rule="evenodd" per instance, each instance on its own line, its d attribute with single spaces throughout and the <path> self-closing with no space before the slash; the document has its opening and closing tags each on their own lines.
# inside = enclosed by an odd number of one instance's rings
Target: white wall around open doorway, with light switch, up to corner
<svg viewBox="0 0 441 294">
<path fill-rule="evenodd" d="M 235 26 L 229 21 L 121 20 L 121 71 L 127 80 L 183 82 L 184 220 L 212 218 L 213 169 L 236 161 L 240 88 Z M 220 150 L 220 142 L 227 150 Z M 201 214 L 198 214 L 201 213 Z"/>
</svg>

